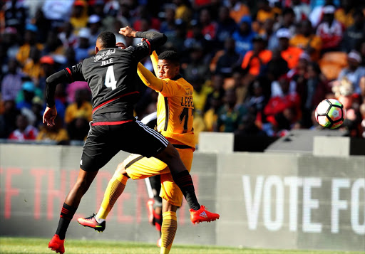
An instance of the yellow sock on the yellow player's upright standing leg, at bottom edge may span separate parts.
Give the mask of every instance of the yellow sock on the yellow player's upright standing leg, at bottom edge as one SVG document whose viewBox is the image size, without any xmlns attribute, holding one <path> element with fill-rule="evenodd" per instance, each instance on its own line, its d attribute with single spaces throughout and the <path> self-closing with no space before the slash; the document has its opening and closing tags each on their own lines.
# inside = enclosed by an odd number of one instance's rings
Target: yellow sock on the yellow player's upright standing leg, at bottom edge
<svg viewBox="0 0 365 254">
<path fill-rule="evenodd" d="M 161 226 L 162 243 L 160 254 L 170 253 L 177 230 L 178 219 L 176 218 L 176 213 L 173 211 L 167 211 L 163 213 L 163 225 Z"/>
</svg>

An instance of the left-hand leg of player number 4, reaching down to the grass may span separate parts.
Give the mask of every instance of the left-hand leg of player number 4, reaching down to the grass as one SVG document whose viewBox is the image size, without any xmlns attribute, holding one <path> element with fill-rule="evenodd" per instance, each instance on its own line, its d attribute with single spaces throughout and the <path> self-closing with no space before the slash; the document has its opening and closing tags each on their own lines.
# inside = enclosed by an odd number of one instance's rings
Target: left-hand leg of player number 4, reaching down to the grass
<svg viewBox="0 0 365 254">
<path fill-rule="evenodd" d="M 66 196 L 56 233 L 48 243 L 48 248 L 55 250 L 56 253 L 65 252 L 63 243 L 66 231 L 83 195 L 88 191 L 93 179 L 98 174 L 98 169 L 101 169 L 118 152 L 117 149 L 113 149 L 112 144 L 101 142 L 101 140 L 108 138 L 108 135 L 104 135 L 107 131 L 107 127 L 91 127 L 88 133 L 88 138 L 83 147 L 83 154 L 81 155 L 78 179 Z"/>
</svg>

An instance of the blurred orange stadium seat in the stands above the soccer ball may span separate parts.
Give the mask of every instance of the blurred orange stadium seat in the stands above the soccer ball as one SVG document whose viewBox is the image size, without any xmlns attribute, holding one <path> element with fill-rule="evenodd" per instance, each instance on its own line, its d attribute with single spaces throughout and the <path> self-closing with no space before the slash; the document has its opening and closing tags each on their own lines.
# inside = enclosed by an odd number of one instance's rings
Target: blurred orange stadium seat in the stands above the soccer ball
<svg viewBox="0 0 365 254">
<path fill-rule="evenodd" d="M 336 79 L 346 66 L 347 54 L 344 52 L 327 52 L 319 59 L 319 67 L 328 80 Z"/>
</svg>

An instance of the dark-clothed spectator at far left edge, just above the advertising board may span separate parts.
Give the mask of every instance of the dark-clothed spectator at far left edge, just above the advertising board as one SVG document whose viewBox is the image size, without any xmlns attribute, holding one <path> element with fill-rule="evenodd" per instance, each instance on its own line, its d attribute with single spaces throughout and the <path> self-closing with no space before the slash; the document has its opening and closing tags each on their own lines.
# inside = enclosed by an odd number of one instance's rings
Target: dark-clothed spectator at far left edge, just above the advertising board
<svg viewBox="0 0 365 254">
<path fill-rule="evenodd" d="M 4 112 L 0 114 L 0 138 L 6 139 L 16 129 L 16 117 L 20 111 L 14 100 L 4 100 Z"/>
</svg>

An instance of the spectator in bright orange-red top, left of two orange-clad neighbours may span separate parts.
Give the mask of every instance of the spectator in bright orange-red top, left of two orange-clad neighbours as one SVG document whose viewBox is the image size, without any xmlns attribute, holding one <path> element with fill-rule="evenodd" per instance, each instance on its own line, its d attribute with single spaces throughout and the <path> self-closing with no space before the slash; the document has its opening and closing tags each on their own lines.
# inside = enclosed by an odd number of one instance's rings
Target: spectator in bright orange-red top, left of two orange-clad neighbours
<svg viewBox="0 0 365 254">
<path fill-rule="evenodd" d="M 248 51 L 242 61 L 242 69 L 246 70 L 251 80 L 262 73 L 262 69 L 266 67 L 272 58 L 272 52 L 265 49 L 266 44 L 264 38 L 256 36 L 252 39 L 253 49 Z"/>
</svg>

